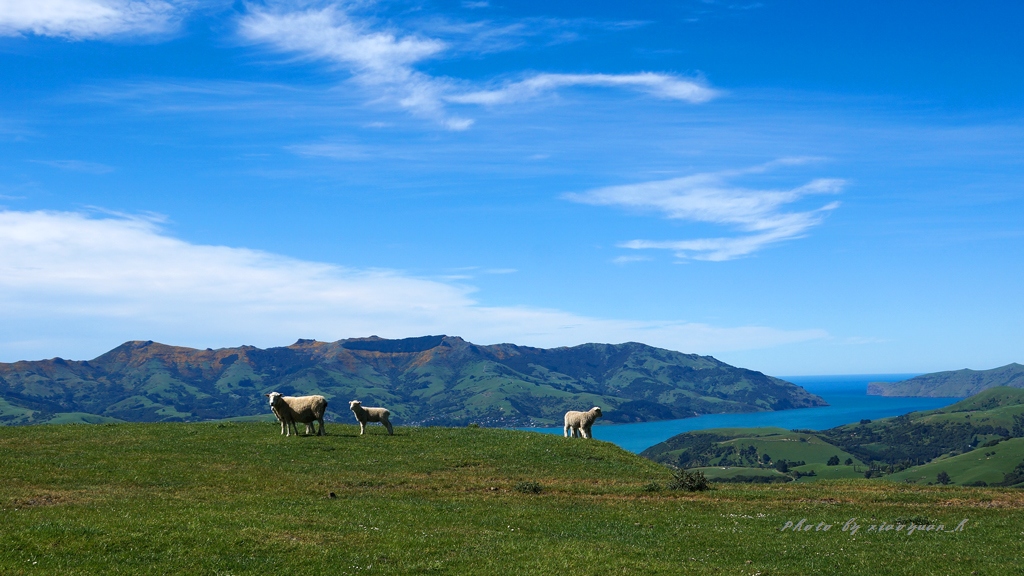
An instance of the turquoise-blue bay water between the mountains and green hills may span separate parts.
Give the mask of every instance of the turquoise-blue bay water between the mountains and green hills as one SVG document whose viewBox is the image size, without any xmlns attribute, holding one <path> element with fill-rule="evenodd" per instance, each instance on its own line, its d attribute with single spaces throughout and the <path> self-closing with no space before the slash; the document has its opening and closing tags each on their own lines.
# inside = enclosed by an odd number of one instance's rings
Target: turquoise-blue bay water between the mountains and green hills
<svg viewBox="0 0 1024 576">
<path fill-rule="evenodd" d="M 611 442 L 631 452 L 664 442 L 677 434 L 708 428 L 780 426 L 786 429 L 823 430 L 867 418 L 874 420 L 918 410 L 948 406 L 959 398 L 886 398 L 867 396 L 867 382 L 895 382 L 916 374 L 857 374 L 843 376 L 782 377 L 807 392 L 823 398 L 828 406 L 748 414 L 708 414 L 682 420 L 662 420 L 637 424 L 597 424 L 594 438 Z M 600 420 L 598 420 L 600 422 Z M 562 434 L 561 427 L 520 428 L 545 434 Z"/>
</svg>

